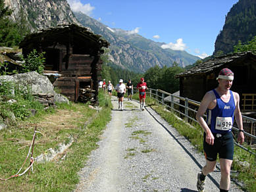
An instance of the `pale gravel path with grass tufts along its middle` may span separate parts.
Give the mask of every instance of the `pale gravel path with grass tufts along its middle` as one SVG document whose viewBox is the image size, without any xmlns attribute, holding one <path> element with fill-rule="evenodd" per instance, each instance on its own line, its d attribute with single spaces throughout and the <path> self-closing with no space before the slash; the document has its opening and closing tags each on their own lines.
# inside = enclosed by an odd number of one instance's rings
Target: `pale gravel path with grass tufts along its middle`
<svg viewBox="0 0 256 192">
<path fill-rule="evenodd" d="M 124 101 L 119 111 L 114 97 L 112 120 L 79 172 L 75 191 L 197 191 L 202 154 L 150 107 Z M 206 179 L 205 191 L 219 191 L 217 168 Z M 232 183 L 230 191 L 241 191 Z"/>
</svg>

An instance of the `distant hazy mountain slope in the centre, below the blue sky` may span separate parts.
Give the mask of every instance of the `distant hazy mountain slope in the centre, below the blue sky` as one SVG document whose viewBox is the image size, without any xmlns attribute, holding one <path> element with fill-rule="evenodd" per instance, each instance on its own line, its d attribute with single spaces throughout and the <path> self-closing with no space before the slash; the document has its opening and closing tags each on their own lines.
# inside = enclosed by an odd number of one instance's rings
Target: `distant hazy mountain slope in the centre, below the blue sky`
<svg viewBox="0 0 256 192">
<path fill-rule="evenodd" d="M 162 49 L 161 43 L 151 41 L 138 34 L 129 34 L 121 29 L 111 29 L 81 12 L 74 12 L 74 14 L 83 26 L 90 28 L 95 34 L 99 34 L 109 41 L 111 44 L 109 59 L 113 64 L 122 68 L 134 72 L 145 72 L 155 65 L 172 66 L 175 61 L 184 67 L 199 59 L 186 51 Z"/>
</svg>

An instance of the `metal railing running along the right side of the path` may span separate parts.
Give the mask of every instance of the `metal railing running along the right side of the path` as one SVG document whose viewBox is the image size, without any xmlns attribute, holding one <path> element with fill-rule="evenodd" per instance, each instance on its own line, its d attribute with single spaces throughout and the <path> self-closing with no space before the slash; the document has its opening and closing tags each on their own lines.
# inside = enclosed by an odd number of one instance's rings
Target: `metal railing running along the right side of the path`
<svg viewBox="0 0 256 192">
<path fill-rule="evenodd" d="M 135 89 L 134 92 L 137 92 L 137 90 Z M 201 104 L 200 102 L 193 101 L 192 99 L 180 97 L 178 95 L 174 95 L 171 93 L 167 93 L 166 91 L 163 91 L 161 89 L 149 88 L 147 89 L 146 93 L 147 95 L 149 95 L 149 97 L 156 99 L 159 103 L 161 103 L 162 105 L 165 105 L 166 108 L 169 108 L 170 110 L 180 114 L 180 116 L 183 117 L 184 120 L 186 120 L 187 122 L 192 121 L 198 124 L 197 120 L 195 119 L 195 114 Z M 206 115 L 204 115 L 204 117 L 206 118 Z M 244 131 L 245 139 L 250 140 L 249 143 L 248 142 L 247 143 L 251 148 L 251 146 L 253 145 L 253 141 L 255 141 L 256 143 L 256 136 L 255 136 L 256 119 L 243 116 L 243 115 L 242 115 L 242 118 L 243 118 L 243 129 L 251 130 L 251 133 Z M 239 129 L 236 126 L 233 126 L 232 130 L 234 130 L 235 132 L 238 132 Z M 247 139 L 246 137 L 249 139 Z M 235 142 L 235 145 L 255 155 L 256 157 L 256 153 L 253 152 L 251 149 L 249 148 L 247 149 L 246 147 L 243 147 L 243 145 L 240 145 L 239 143 L 236 143 L 236 142 Z"/>
</svg>

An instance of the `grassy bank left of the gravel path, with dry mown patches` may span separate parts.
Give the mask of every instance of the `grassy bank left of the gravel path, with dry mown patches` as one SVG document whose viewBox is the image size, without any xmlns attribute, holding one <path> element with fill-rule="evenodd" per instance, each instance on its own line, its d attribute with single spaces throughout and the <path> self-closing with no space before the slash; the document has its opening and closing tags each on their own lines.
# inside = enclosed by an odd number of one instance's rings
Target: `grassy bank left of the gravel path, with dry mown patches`
<svg viewBox="0 0 256 192">
<path fill-rule="evenodd" d="M 18 178 L 0 181 L 0 191 L 72 191 L 78 183 L 78 171 L 84 167 L 111 116 L 109 97 L 99 93 L 101 110 L 88 105 L 72 103 L 60 105 L 48 113 L 41 113 L 18 126 L 0 131 L 0 178 L 18 172 L 28 154 L 35 126 L 34 157 L 56 149 L 59 143 L 74 139 L 71 147 L 50 162 L 34 163 L 34 172 Z M 88 122 L 90 122 L 88 124 Z M 28 167 L 29 162 L 25 164 Z M 25 169 L 24 168 L 24 169 Z M 24 171 L 22 170 L 22 172 Z"/>
</svg>

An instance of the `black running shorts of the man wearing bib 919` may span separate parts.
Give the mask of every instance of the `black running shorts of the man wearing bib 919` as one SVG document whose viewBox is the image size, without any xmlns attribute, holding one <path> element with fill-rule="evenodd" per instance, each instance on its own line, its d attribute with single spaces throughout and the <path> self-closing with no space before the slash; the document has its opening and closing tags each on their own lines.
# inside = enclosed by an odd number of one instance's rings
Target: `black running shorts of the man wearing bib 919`
<svg viewBox="0 0 256 192">
<path fill-rule="evenodd" d="M 217 160 L 219 158 L 225 158 L 233 160 L 234 154 L 234 141 L 232 132 L 222 134 L 221 137 L 217 137 L 216 133 L 213 133 L 215 141 L 213 145 L 209 145 L 205 141 L 205 133 L 203 133 L 203 151 L 205 151 L 205 158 L 209 161 Z"/>
</svg>

